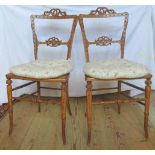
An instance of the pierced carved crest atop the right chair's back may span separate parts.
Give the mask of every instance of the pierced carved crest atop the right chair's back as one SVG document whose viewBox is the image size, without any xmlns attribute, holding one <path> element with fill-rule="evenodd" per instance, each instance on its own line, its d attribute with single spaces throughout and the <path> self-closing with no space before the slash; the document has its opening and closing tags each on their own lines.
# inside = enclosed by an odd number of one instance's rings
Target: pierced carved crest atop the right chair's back
<svg viewBox="0 0 155 155">
<path fill-rule="evenodd" d="M 92 10 L 89 15 L 110 15 L 115 14 L 116 12 L 113 9 L 108 9 L 106 7 L 98 7 L 96 10 Z"/>
</svg>

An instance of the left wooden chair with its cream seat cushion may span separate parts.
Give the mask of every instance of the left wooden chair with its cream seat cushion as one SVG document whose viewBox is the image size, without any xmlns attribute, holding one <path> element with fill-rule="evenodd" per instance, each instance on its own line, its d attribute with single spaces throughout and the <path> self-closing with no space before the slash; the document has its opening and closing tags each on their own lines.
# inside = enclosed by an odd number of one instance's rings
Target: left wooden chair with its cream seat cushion
<svg viewBox="0 0 155 155">
<path fill-rule="evenodd" d="M 36 34 L 35 20 L 39 19 L 42 22 L 46 19 L 48 20 L 72 20 L 72 27 L 70 31 L 70 36 L 68 41 L 59 40 L 56 37 L 51 37 L 45 41 L 39 41 Z M 11 68 L 11 73 L 7 74 L 7 93 L 8 93 L 8 110 L 9 110 L 9 120 L 10 120 L 10 129 L 9 134 L 13 130 L 13 105 L 12 102 L 14 99 L 21 99 L 12 97 L 12 91 L 18 90 L 20 88 L 29 86 L 31 84 L 37 84 L 37 91 L 31 93 L 30 95 L 37 94 L 38 102 L 38 111 L 40 112 L 40 96 L 41 89 L 51 89 L 51 90 L 60 90 L 61 91 L 61 120 L 62 120 L 62 139 L 63 143 L 66 143 L 65 136 L 65 126 L 66 126 L 66 107 L 68 107 L 69 114 L 71 115 L 71 110 L 69 106 L 69 97 L 68 97 L 68 79 L 69 73 L 72 70 L 72 66 L 68 59 L 71 58 L 71 50 L 73 37 L 76 29 L 78 18 L 76 15 L 67 15 L 66 12 L 61 11 L 60 9 L 51 9 L 50 11 L 45 11 L 42 15 L 31 15 L 31 27 L 33 32 L 33 42 L 34 42 L 34 56 L 35 61 L 18 65 Z M 60 45 L 67 46 L 67 56 L 66 60 L 51 60 L 51 61 L 40 61 L 38 60 L 38 46 L 47 45 L 51 47 L 57 47 Z M 19 80 L 28 80 L 26 84 L 12 88 L 12 79 Z M 40 85 L 41 82 L 60 82 L 61 88 L 50 88 L 43 87 Z"/>
</svg>

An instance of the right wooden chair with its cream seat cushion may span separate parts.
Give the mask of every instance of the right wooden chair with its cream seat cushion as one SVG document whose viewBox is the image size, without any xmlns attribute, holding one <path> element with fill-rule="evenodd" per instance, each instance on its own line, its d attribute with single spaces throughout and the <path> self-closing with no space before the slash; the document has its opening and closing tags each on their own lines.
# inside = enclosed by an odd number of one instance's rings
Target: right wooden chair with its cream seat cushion
<svg viewBox="0 0 155 155">
<path fill-rule="evenodd" d="M 120 40 L 113 40 L 108 36 L 101 36 L 97 38 L 95 41 L 89 41 L 86 36 L 86 28 L 84 19 L 98 19 L 98 18 L 112 18 L 112 17 L 123 17 L 124 26 Z M 86 95 L 87 95 L 87 123 L 88 123 L 88 140 L 91 141 L 91 131 L 92 131 L 92 93 L 94 91 L 99 90 L 109 90 L 116 89 L 118 91 L 117 98 L 112 101 L 103 101 L 101 104 L 118 104 L 118 113 L 120 113 L 120 104 L 128 103 L 128 102 L 138 102 L 145 106 L 144 110 L 144 131 L 145 137 L 148 138 L 148 116 L 149 116 L 149 105 L 150 105 L 150 92 L 151 92 L 151 77 L 152 75 L 149 73 L 148 69 L 141 64 L 137 64 L 136 62 L 128 61 L 124 59 L 124 46 L 125 46 L 125 36 L 126 29 L 128 24 L 128 13 L 116 13 L 113 9 L 108 9 L 105 7 L 99 7 L 96 10 L 92 10 L 89 14 L 81 14 L 79 16 L 80 27 L 83 36 L 84 50 L 85 50 L 85 58 L 86 64 L 84 66 L 85 72 L 85 80 L 87 82 L 86 85 Z M 89 60 L 89 47 L 91 45 L 96 46 L 108 46 L 111 44 L 120 44 L 121 58 L 113 61 L 105 61 L 105 62 L 90 62 Z M 109 67 L 109 69 L 108 69 Z M 145 79 L 145 89 L 140 88 L 134 84 L 126 82 L 124 80 L 138 80 Z M 94 81 L 116 81 L 118 83 L 117 87 L 113 88 L 100 88 L 93 89 L 92 83 Z M 132 98 L 130 96 L 126 96 L 121 91 L 121 85 L 126 84 L 133 88 L 145 92 L 145 98 Z M 123 99 L 125 95 L 127 98 Z"/>
</svg>

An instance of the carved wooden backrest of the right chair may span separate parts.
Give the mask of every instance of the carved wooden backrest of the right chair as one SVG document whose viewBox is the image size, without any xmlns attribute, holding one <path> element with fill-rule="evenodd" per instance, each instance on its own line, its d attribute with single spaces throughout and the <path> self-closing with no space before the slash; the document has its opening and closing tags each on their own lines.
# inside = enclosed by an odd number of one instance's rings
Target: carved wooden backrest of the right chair
<svg viewBox="0 0 155 155">
<path fill-rule="evenodd" d="M 124 46 L 125 46 L 125 37 L 126 37 L 126 29 L 128 24 L 128 13 L 116 13 L 113 9 L 108 9 L 106 7 L 98 7 L 96 10 L 90 11 L 89 14 L 80 14 L 79 16 L 79 23 L 80 28 L 82 32 L 83 37 L 83 43 L 84 43 L 84 50 L 85 50 L 85 58 L 86 62 L 89 62 L 89 51 L 88 48 L 90 45 L 96 45 L 96 46 L 108 46 L 111 44 L 118 43 L 121 47 L 121 58 L 124 57 Z M 89 41 L 86 36 L 86 30 L 85 30 L 85 18 L 112 18 L 112 17 L 124 17 L 124 23 L 123 23 L 123 31 L 121 34 L 121 38 L 119 40 L 113 40 L 112 38 L 108 36 L 99 36 L 95 41 Z"/>
</svg>

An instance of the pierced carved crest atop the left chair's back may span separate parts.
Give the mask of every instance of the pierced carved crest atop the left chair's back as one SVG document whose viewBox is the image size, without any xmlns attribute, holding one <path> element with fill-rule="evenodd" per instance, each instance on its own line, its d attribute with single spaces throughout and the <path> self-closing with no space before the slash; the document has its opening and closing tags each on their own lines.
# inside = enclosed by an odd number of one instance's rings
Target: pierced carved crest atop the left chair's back
<svg viewBox="0 0 155 155">
<path fill-rule="evenodd" d="M 44 12 L 45 16 L 66 16 L 66 12 L 65 11 L 61 11 L 60 9 L 54 8 L 51 9 L 50 11 L 45 11 Z"/>
</svg>

